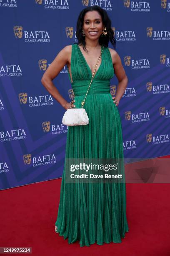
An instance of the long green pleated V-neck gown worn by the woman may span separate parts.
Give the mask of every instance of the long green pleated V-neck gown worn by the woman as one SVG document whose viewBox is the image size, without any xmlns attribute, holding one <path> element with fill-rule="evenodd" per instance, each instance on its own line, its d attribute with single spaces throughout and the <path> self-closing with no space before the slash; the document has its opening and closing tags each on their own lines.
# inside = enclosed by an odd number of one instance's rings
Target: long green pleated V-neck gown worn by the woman
<svg viewBox="0 0 170 256">
<path fill-rule="evenodd" d="M 92 72 L 77 44 L 72 44 L 71 73 L 75 106 L 81 108 Z M 110 94 L 113 76 L 110 51 L 104 47 L 84 105 L 89 124 L 68 126 L 65 158 L 123 158 L 120 114 Z M 71 82 L 70 74 L 69 79 Z M 121 243 L 129 230 L 125 183 L 69 184 L 65 172 L 64 165 L 57 236 L 68 238 L 69 244 L 78 240 L 81 247 Z M 121 173 L 124 175 L 124 165 Z"/>
</svg>

